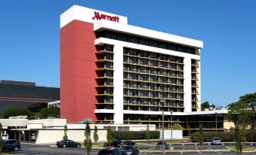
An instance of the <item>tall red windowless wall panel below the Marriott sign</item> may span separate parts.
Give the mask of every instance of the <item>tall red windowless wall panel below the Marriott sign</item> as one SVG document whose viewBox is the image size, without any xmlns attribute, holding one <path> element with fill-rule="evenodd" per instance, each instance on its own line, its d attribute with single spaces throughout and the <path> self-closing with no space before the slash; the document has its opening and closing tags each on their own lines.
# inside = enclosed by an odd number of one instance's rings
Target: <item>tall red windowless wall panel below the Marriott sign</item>
<svg viewBox="0 0 256 155">
<path fill-rule="evenodd" d="M 93 23 L 73 20 L 60 29 L 60 117 L 96 120 L 96 47 Z"/>
</svg>

